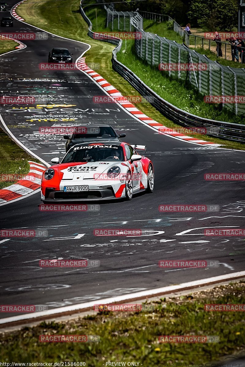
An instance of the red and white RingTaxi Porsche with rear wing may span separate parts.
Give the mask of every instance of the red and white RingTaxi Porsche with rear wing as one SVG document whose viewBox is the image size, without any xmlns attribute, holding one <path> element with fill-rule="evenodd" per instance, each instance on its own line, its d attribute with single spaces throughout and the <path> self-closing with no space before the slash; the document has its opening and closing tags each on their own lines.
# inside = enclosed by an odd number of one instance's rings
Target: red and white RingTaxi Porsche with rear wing
<svg viewBox="0 0 245 367">
<path fill-rule="evenodd" d="M 151 160 L 138 155 L 124 142 L 81 143 L 64 156 L 51 160 L 55 165 L 42 176 L 41 200 L 80 201 L 126 198 L 154 188 L 154 168 Z"/>
</svg>

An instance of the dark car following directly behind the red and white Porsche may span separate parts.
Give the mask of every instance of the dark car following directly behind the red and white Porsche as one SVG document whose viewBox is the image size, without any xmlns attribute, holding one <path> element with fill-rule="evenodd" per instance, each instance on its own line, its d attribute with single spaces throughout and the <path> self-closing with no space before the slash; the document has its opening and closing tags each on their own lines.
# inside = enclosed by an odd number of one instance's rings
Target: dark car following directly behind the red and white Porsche
<svg viewBox="0 0 245 367">
<path fill-rule="evenodd" d="M 90 143 L 90 142 L 120 142 L 119 138 L 125 138 L 126 134 L 123 132 L 117 134 L 111 125 L 83 125 L 76 126 L 72 135 L 64 135 L 64 139 L 67 140 L 65 145 L 65 151 L 76 144 Z"/>
</svg>

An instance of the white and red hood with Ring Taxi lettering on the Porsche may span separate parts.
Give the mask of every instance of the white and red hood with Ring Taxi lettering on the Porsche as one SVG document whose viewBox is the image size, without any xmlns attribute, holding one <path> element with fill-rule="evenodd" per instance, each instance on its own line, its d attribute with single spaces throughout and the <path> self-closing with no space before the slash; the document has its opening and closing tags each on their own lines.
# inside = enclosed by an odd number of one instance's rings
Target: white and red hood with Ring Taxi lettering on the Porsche
<svg viewBox="0 0 245 367">
<path fill-rule="evenodd" d="M 98 175 L 106 173 L 109 168 L 120 167 L 120 163 L 122 162 L 61 163 L 58 165 L 58 170 L 61 180 L 80 181 L 82 179 L 96 179 Z"/>
</svg>

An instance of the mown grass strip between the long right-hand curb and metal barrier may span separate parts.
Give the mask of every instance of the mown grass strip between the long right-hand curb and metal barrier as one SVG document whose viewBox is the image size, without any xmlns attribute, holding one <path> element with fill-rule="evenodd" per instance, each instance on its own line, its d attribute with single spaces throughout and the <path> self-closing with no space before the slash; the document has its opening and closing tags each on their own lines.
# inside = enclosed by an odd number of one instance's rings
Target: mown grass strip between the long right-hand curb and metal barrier
<svg viewBox="0 0 245 367">
<path fill-rule="evenodd" d="M 115 46 L 108 44 L 106 42 L 93 40 L 87 35 L 88 25 L 83 20 L 79 12 L 79 0 L 63 0 L 62 7 L 52 7 L 52 12 L 50 8 L 44 3 L 37 2 L 33 4 L 33 0 L 27 0 L 24 4 L 18 7 L 18 14 L 25 19 L 26 22 L 33 24 L 39 28 L 45 29 L 49 32 L 58 34 L 63 37 L 68 37 L 74 40 L 79 40 L 87 42 L 91 45 L 90 50 L 86 53 L 87 63 L 96 63 L 100 67 L 95 67 L 95 71 L 100 73 L 109 83 L 115 86 L 120 92 L 127 95 L 138 95 L 138 92 L 118 73 L 112 69 L 111 55 L 112 50 Z M 28 4 L 30 2 L 31 4 Z M 68 7 L 66 7 L 68 6 Z M 34 8 L 32 8 L 34 7 Z M 96 30 L 96 11 L 97 8 L 97 23 L 98 30 L 102 31 L 104 18 L 104 10 L 100 7 L 93 6 L 89 8 L 85 7 L 86 13 L 91 17 L 91 21 L 95 24 L 94 29 Z M 127 41 L 130 42 L 130 41 Z M 127 43 L 129 46 L 130 44 Z M 130 65 L 131 68 L 132 65 Z M 141 63 L 142 67 L 142 63 Z M 159 75 L 158 75 L 159 78 Z M 177 83 L 177 82 L 176 82 Z M 148 83 L 147 83 L 148 84 Z M 176 86 L 176 90 L 180 88 L 179 83 Z M 171 93 L 170 93 L 171 94 Z M 175 104 L 175 103 L 174 103 Z M 176 104 L 175 104 L 176 105 Z M 169 128 L 180 128 L 179 125 L 168 120 L 160 112 L 158 112 L 149 103 L 139 103 L 137 107 L 145 113 L 145 115 L 151 117 L 152 119 L 158 121 L 159 123 L 169 127 Z M 217 144 L 221 144 L 228 149 L 239 149 L 244 150 L 245 146 L 242 143 L 225 141 L 223 139 L 213 138 L 213 137 L 203 137 L 199 134 L 188 134 L 194 138 L 208 140 Z"/>
</svg>

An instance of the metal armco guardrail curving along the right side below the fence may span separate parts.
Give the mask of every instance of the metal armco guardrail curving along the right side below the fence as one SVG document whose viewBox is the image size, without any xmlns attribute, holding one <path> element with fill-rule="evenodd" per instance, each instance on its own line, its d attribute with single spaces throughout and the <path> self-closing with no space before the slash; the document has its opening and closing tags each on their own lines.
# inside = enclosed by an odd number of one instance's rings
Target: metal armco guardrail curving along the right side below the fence
<svg viewBox="0 0 245 367">
<path fill-rule="evenodd" d="M 82 6 L 80 6 L 80 12 L 83 19 L 89 25 L 89 36 L 91 38 L 96 38 L 94 34 L 96 32 L 92 31 L 92 23 L 90 19 L 86 16 L 83 11 Z M 112 51 L 112 66 L 116 72 L 118 72 L 124 79 L 126 79 L 141 95 L 151 95 L 154 97 L 154 102 L 151 103 L 156 109 L 159 110 L 163 115 L 165 115 L 170 120 L 177 124 L 185 127 L 206 127 L 208 129 L 212 128 L 214 132 L 210 132 L 208 135 L 213 137 L 219 137 L 223 139 L 245 142 L 245 125 L 233 124 L 225 121 L 216 121 L 204 119 L 203 117 L 192 115 L 191 113 L 185 112 L 171 103 L 165 101 L 162 97 L 156 94 L 151 88 L 149 88 L 140 78 L 137 77 L 130 69 L 117 60 L 116 54 L 120 51 L 122 47 L 122 40 L 115 38 L 108 39 L 108 41 L 117 46 Z"/>
</svg>

